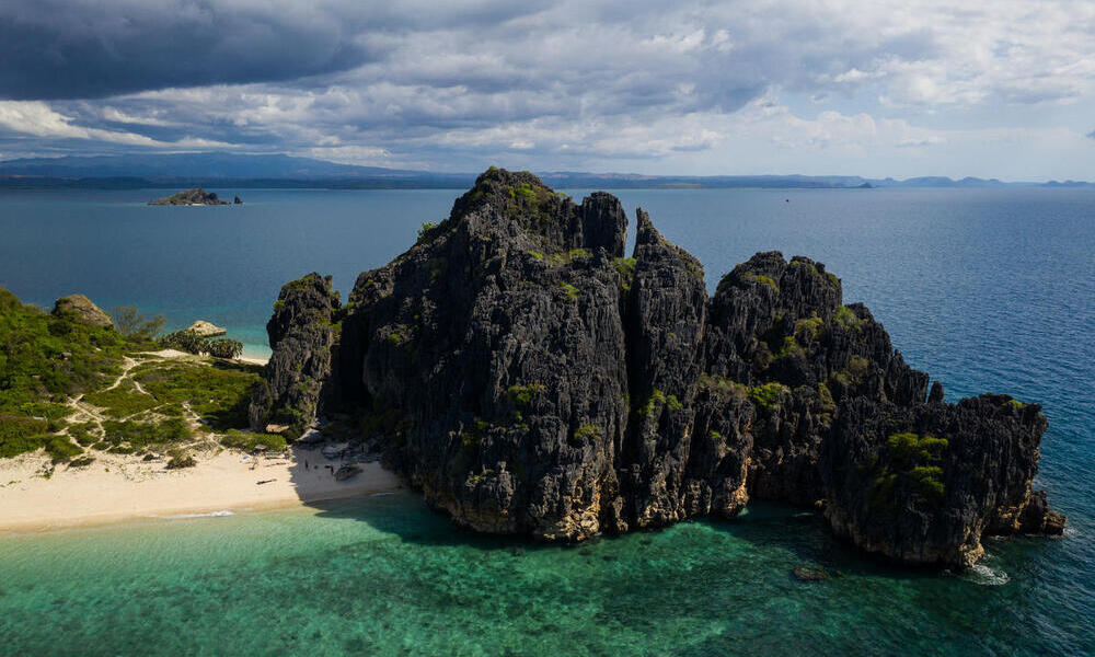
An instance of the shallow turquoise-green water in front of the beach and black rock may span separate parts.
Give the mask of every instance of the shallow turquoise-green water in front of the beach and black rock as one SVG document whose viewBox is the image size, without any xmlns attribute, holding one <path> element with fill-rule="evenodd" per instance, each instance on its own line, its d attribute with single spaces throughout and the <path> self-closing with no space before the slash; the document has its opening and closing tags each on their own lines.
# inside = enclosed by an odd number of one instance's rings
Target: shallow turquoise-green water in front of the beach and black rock
<svg viewBox="0 0 1095 657">
<path fill-rule="evenodd" d="M 1067 542 L 1012 541 L 1024 572 Z M 413 495 L 0 541 L 11 655 L 1011 654 L 1090 627 L 999 574 L 909 573 L 751 509 L 580 548 L 454 531 Z M 799 564 L 842 573 L 794 579 Z M 1052 642 L 1052 643 L 1051 643 Z"/>
</svg>

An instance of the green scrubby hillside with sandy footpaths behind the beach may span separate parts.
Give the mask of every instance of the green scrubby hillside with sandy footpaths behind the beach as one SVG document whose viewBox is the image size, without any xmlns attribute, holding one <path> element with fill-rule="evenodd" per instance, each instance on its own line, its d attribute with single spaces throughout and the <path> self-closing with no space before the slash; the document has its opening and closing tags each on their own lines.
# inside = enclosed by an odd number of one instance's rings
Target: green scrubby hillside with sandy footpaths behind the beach
<svg viewBox="0 0 1095 657">
<path fill-rule="evenodd" d="M 162 348 L 111 327 L 24 306 L 0 288 L 0 458 L 44 449 L 54 462 L 90 463 L 95 451 L 163 453 L 215 442 L 284 448 L 246 431 L 261 368 Z"/>
</svg>

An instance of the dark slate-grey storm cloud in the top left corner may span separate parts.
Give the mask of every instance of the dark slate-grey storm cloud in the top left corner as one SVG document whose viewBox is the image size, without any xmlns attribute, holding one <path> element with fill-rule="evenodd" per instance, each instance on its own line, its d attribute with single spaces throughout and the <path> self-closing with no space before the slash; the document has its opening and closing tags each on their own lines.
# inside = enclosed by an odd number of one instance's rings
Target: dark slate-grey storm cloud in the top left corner
<svg viewBox="0 0 1095 657">
<path fill-rule="evenodd" d="M 330 3 L 15 0 L 0 4 L 0 97 L 92 99 L 291 80 L 369 53 Z"/>
</svg>

